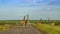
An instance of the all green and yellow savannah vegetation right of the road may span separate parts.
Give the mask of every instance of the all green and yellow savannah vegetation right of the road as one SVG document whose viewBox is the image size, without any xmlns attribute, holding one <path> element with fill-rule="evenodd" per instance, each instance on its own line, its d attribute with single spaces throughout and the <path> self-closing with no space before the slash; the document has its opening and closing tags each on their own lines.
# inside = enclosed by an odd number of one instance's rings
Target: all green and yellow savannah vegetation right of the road
<svg viewBox="0 0 60 34">
<path fill-rule="evenodd" d="M 42 20 L 41 24 L 38 24 L 37 26 L 37 22 L 39 20 L 34 20 L 31 21 L 32 25 L 37 28 L 38 30 L 42 30 L 43 32 L 45 32 L 46 34 L 60 34 L 60 20 L 56 20 L 55 25 L 50 25 L 51 21 L 53 20 Z"/>
</svg>

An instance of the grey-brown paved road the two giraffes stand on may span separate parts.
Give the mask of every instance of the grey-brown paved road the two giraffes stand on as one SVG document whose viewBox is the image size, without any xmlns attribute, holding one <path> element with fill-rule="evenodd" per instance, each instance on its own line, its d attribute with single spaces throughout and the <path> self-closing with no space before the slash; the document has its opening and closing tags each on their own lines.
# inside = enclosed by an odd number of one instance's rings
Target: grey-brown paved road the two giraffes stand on
<svg viewBox="0 0 60 34">
<path fill-rule="evenodd" d="M 43 33 L 35 29 L 31 25 L 27 25 L 26 28 L 22 27 L 19 28 L 16 26 L 13 29 L 0 32 L 0 34 L 43 34 Z"/>
</svg>

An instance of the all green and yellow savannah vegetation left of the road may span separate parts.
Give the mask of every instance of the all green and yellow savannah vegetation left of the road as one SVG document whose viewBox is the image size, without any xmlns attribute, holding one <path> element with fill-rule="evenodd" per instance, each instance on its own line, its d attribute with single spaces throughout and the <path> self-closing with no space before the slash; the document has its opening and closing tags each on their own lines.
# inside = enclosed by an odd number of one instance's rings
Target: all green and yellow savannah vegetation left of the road
<svg viewBox="0 0 60 34">
<path fill-rule="evenodd" d="M 13 25 L 18 25 L 20 23 L 20 20 L 0 20 L 0 31 L 5 31 L 8 29 L 13 28 Z M 9 24 L 11 26 L 5 25 Z"/>
</svg>

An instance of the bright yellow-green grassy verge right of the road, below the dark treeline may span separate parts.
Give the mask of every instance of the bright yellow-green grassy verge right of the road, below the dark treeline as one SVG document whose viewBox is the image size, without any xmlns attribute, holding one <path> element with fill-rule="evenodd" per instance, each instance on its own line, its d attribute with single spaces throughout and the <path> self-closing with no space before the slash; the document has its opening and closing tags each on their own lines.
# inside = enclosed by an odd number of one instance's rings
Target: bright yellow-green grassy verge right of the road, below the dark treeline
<svg viewBox="0 0 60 34">
<path fill-rule="evenodd" d="M 48 24 L 41 24 L 36 26 L 33 24 L 37 29 L 46 32 L 46 34 L 60 34 L 60 26 L 50 26 Z"/>
</svg>

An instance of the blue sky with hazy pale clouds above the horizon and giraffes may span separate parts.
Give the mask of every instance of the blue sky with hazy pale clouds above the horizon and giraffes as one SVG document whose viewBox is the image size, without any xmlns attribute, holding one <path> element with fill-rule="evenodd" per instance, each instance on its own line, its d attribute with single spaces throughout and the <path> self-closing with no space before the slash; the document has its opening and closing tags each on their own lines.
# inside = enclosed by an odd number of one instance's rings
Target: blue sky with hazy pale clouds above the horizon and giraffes
<svg viewBox="0 0 60 34">
<path fill-rule="evenodd" d="M 23 19 L 60 20 L 60 0 L 0 0 L 0 20 Z"/>
</svg>

